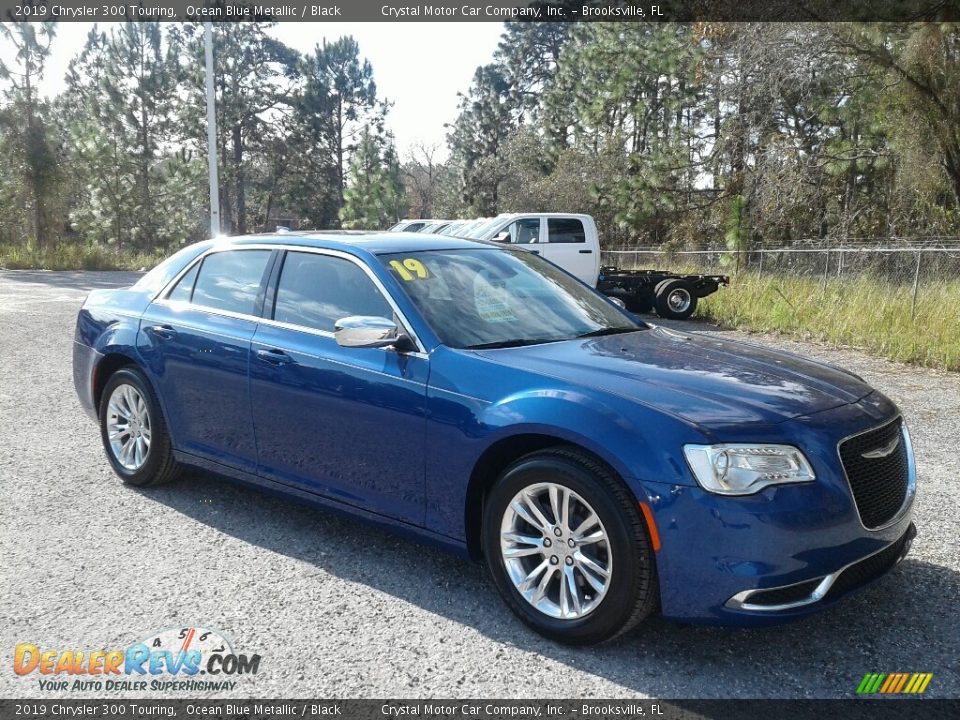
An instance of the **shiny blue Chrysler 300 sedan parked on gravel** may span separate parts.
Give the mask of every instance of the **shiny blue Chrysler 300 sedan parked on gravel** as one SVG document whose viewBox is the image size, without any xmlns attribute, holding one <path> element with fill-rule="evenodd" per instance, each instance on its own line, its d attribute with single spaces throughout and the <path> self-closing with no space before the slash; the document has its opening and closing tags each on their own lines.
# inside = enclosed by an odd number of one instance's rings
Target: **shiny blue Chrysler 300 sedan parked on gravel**
<svg viewBox="0 0 960 720">
<path fill-rule="evenodd" d="M 861 378 L 645 324 L 486 243 L 192 245 L 90 294 L 73 370 L 125 482 L 200 466 L 483 557 L 568 643 L 657 607 L 808 613 L 916 532 L 910 436 Z"/>
</svg>

